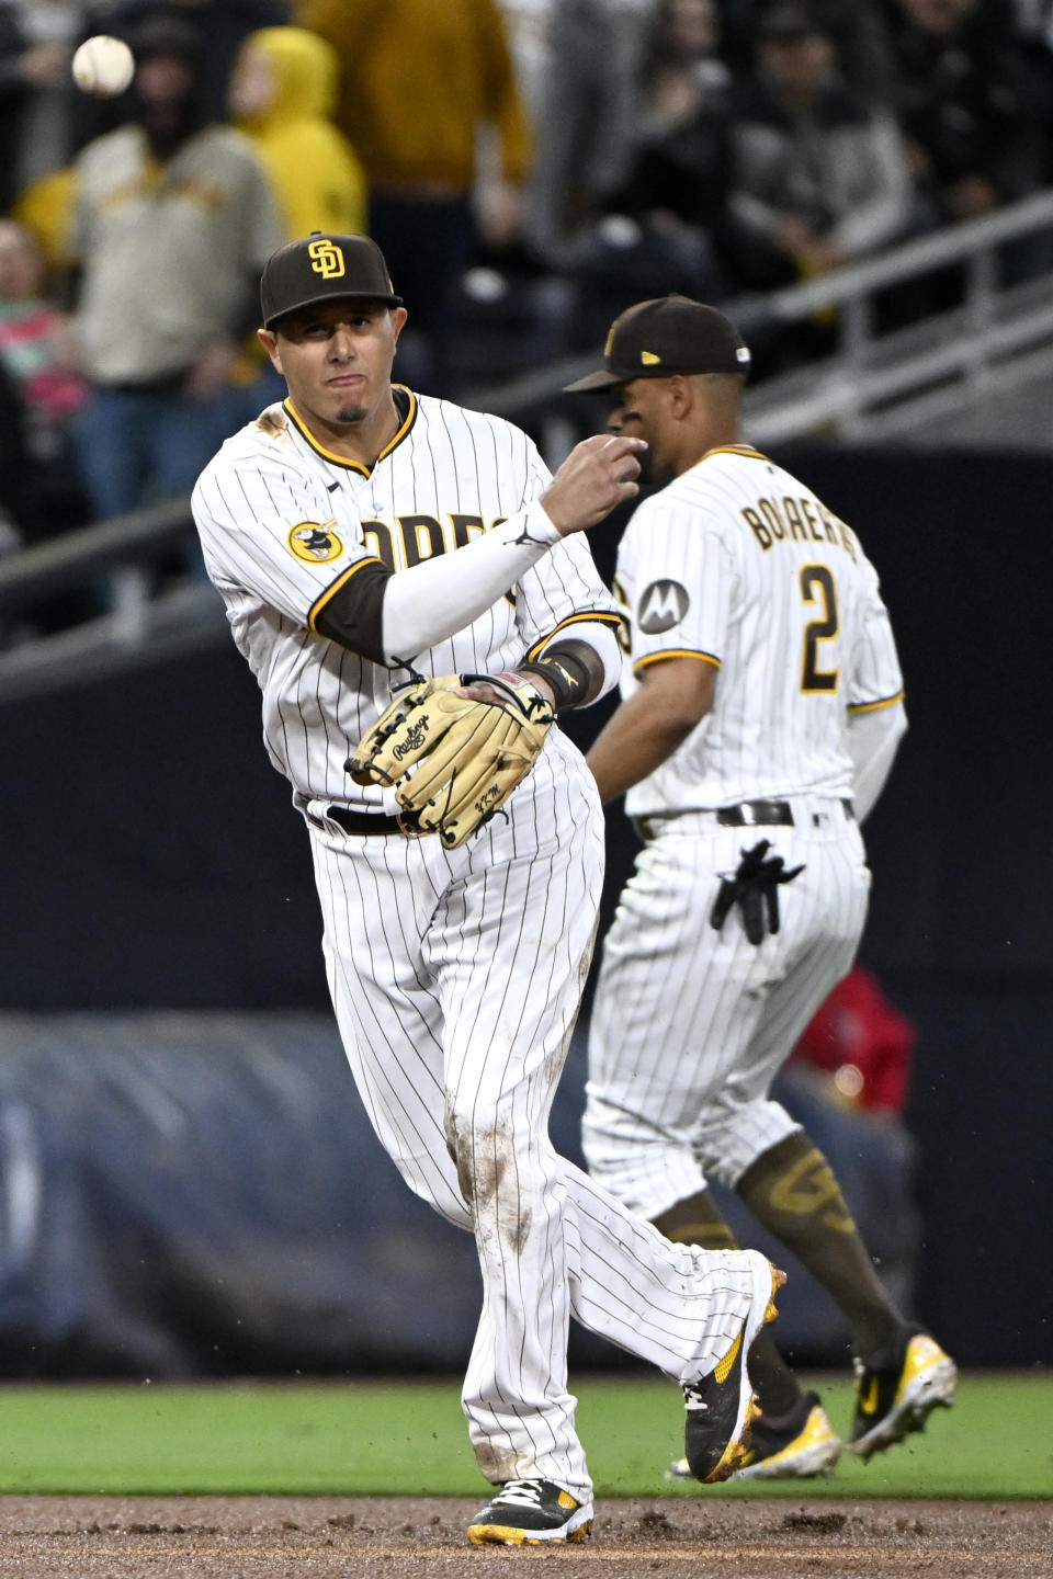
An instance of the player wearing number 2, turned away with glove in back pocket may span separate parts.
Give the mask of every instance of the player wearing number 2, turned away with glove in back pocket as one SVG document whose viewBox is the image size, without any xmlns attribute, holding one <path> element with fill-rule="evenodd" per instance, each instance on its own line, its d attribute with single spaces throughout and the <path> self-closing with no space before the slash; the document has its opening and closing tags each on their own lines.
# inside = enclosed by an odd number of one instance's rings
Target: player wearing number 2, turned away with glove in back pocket
<svg viewBox="0 0 1053 1579">
<path fill-rule="evenodd" d="M 857 537 L 745 444 L 750 352 L 714 308 L 641 302 L 608 338 L 609 431 L 647 441 L 616 592 L 622 704 L 587 753 L 643 850 L 605 940 L 590 1023 L 592 1176 L 673 1240 L 734 1244 L 734 1189 L 838 1303 L 868 1457 L 950 1404 L 955 1366 L 892 1304 L 826 1157 L 769 1085 L 849 970 L 870 873 L 859 824 L 906 728 L 878 576 Z M 841 1442 L 769 1336 L 747 1478 L 829 1470 Z M 673 1465 L 673 1473 L 684 1472 Z"/>
</svg>

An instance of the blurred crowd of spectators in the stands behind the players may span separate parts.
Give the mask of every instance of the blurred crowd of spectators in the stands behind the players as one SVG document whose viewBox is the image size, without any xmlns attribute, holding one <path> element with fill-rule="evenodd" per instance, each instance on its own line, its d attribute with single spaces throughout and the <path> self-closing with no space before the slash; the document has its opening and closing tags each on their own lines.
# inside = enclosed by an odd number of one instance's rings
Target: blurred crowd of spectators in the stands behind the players
<svg viewBox="0 0 1053 1579">
<path fill-rule="evenodd" d="M 0 134 L 2 549 L 191 489 L 308 231 L 376 237 L 456 395 L 1051 185 L 1053 0 L 0 0 Z"/>
</svg>

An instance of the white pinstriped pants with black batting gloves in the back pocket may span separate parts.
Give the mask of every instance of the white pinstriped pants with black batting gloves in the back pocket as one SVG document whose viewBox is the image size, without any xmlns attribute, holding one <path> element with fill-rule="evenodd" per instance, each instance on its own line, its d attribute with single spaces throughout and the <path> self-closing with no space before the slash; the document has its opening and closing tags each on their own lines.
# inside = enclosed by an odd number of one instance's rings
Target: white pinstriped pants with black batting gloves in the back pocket
<svg viewBox="0 0 1053 1579">
<path fill-rule="evenodd" d="M 590 1175 L 646 1217 L 734 1187 L 800 1126 L 767 1090 L 859 947 L 870 872 L 841 802 L 794 797 L 793 827 L 655 820 L 603 943 L 589 1026 L 583 1146 Z M 751 944 L 737 908 L 709 924 L 744 848 L 804 872 L 778 891 L 781 927 Z"/>
</svg>

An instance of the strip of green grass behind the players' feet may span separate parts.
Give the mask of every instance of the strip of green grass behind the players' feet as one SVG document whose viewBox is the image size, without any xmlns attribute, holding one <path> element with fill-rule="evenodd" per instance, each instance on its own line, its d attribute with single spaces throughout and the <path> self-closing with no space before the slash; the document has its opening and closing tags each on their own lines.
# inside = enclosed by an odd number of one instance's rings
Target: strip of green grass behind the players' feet
<svg viewBox="0 0 1053 1579">
<path fill-rule="evenodd" d="M 851 1388 L 805 1378 L 846 1429 Z M 589 1375 L 578 1427 L 605 1497 L 802 1495 L 805 1484 L 677 1487 L 682 1410 L 663 1382 Z M 0 1494 L 474 1495 L 455 1382 L 0 1386 Z M 1053 1375 L 966 1375 L 925 1435 L 868 1465 L 848 1454 L 823 1497 L 1053 1497 Z"/>
</svg>

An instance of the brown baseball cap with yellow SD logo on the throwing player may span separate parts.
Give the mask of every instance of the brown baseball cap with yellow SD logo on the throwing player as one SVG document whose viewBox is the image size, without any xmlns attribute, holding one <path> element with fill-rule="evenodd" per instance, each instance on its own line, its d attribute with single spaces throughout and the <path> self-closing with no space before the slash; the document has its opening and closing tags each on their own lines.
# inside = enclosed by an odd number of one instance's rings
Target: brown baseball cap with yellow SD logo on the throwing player
<svg viewBox="0 0 1053 1579">
<path fill-rule="evenodd" d="M 273 328 L 286 313 L 338 297 L 369 297 L 401 306 L 395 295 L 384 253 L 368 235 L 324 235 L 311 231 L 272 253 L 259 283 L 264 327 Z"/>
</svg>

